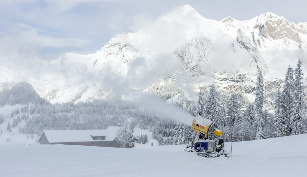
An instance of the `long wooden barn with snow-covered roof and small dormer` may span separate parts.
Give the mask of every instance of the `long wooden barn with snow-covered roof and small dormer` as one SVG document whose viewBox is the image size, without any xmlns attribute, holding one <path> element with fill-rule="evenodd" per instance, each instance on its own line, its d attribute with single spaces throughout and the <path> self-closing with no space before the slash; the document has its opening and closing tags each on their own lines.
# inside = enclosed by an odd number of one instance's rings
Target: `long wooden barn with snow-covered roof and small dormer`
<svg viewBox="0 0 307 177">
<path fill-rule="evenodd" d="M 134 148 L 133 143 L 119 144 L 115 132 L 119 127 L 111 126 L 105 130 L 45 130 L 39 144 L 69 144 L 84 146 L 104 146 L 114 148 Z M 137 140 L 135 138 L 135 140 Z M 133 140 L 133 142 L 135 141 Z"/>
</svg>

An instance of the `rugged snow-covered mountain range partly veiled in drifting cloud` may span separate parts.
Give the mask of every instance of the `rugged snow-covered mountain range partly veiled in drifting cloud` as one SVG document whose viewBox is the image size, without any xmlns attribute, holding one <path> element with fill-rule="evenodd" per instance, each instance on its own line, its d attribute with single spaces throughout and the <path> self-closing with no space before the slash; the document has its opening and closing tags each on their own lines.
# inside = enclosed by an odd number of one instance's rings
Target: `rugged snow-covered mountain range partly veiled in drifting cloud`
<svg viewBox="0 0 307 177">
<path fill-rule="evenodd" d="M 304 72 L 306 56 L 307 23 L 270 12 L 246 21 L 215 21 L 185 5 L 134 34 L 116 35 L 94 54 L 68 53 L 45 62 L 39 73 L 25 77 L 2 68 L 3 75 L 14 75 L 0 82 L 29 82 L 53 103 L 105 99 L 110 93 L 131 98 L 131 90 L 149 92 L 165 80 L 191 97 L 212 83 L 252 95 L 259 71 L 266 89 L 274 90 L 298 58 Z"/>
</svg>

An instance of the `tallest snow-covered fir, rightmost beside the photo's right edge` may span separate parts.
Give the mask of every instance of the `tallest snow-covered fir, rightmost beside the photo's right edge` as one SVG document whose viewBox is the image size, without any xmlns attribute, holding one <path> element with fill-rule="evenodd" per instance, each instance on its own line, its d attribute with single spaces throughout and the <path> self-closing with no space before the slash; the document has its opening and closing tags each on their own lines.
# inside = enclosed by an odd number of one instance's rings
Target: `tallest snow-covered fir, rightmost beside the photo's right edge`
<svg viewBox="0 0 307 177">
<path fill-rule="evenodd" d="M 302 73 L 301 70 L 302 62 L 298 60 L 297 67 L 294 70 L 295 78 L 293 84 L 293 102 L 291 110 L 291 125 L 292 125 L 292 135 L 307 133 L 306 126 L 303 123 L 304 111 L 304 92 L 302 83 Z"/>
</svg>

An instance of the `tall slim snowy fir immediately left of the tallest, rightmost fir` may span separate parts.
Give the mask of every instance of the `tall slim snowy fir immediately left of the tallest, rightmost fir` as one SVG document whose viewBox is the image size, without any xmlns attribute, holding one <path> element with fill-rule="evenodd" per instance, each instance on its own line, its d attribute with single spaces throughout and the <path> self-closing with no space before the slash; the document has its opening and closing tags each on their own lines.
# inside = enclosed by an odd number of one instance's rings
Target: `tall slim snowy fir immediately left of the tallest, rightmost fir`
<svg viewBox="0 0 307 177">
<path fill-rule="evenodd" d="M 293 102 L 293 84 L 294 84 L 294 79 L 293 79 L 293 70 L 292 67 L 288 67 L 288 70 L 286 72 L 286 78 L 285 78 L 285 85 L 283 89 L 283 99 L 284 99 L 284 111 L 286 112 L 286 125 L 287 125 L 287 135 L 291 134 L 291 106 Z"/>
</svg>

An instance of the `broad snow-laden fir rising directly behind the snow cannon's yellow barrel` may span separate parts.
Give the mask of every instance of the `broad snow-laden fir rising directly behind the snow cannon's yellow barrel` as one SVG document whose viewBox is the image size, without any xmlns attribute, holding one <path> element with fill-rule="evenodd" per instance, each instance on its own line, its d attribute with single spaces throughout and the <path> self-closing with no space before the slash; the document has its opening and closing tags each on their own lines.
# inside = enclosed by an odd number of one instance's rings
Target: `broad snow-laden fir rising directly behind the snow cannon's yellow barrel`
<svg viewBox="0 0 307 177">
<path fill-rule="evenodd" d="M 212 84 L 207 97 L 206 116 L 219 126 L 227 126 L 227 122 L 222 115 L 220 97 L 215 90 L 214 84 Z"/>
</svg>

